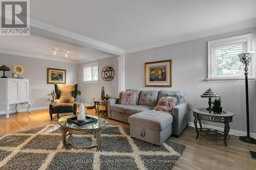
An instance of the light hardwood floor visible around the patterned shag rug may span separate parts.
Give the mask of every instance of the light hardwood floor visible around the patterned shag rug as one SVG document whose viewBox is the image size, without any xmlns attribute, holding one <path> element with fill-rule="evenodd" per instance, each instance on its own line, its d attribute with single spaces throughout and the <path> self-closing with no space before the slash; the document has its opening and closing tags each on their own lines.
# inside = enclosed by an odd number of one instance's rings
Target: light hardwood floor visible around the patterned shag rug
<svg viewBox="0 0 256 170">
<path fill-rule="evenodd" d="M 95 115 L 95 110 L 86 110 Z M 59 114 L 60 117 L 67 114 Z M 108 122 L 129 127 L 129 124 L 109 119 L 107 115 L 101 115 Z M 0 118 L 0 135 L 29 130 L 49 124 L 57 124 L 57 116 L 50 120 L 48 109 L 20 112 L 10 115 L 9 119 Z M 179 162 L 173 169 L 256 169 L 256 160 L 251 159 L 249 151 L 256 151 L 256 144 L 242 142 L 238 136 L 231 136 L 228 147 L 223 141 L 199 136 L 195 138 L 195 129 L 187 127 L 179 138 L 174 141 L 186 145 L 186 150 L 179 158 Z"/>
</svg>

